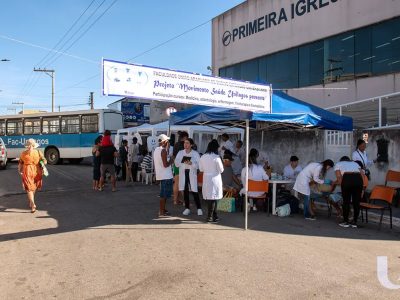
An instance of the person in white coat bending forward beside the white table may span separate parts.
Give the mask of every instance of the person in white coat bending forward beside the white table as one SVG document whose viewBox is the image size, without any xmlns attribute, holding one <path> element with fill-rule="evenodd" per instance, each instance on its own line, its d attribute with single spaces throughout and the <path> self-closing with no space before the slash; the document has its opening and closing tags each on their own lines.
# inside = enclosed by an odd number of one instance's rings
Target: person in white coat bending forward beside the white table
<svg viewBox="0 0 400 300">
<path fill-rule="evenodd" d="M 307 220 L 315 220 L 315 216 L 310 211 L 310 183 L 323 184 L 326 171 L 333 168 L 333 165 L 330 159 L 321 163 L 310 163 L 297 175 L 293 189 L 304 199 L 304 217 Z"/>
</svg>

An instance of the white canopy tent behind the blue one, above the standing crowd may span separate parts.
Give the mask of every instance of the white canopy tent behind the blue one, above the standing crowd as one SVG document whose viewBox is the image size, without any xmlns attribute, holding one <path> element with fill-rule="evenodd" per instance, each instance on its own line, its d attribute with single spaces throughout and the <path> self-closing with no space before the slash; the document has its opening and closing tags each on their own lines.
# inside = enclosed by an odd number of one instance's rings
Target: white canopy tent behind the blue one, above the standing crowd
<svg viewBox="0 0 400 300">
<path fill-rule="evenodd" d="M 168 134 L 170 132 L 171 145 L 177 142 L 178 131 L 186 131 L 189 137 L 193 139 L 197 145 L 197 151 L 204 153 L 207 149 L 208 143 L 212 139 L 219 139 L 223 133 L 229 134 L 229 139 L 232 143 L 237 140 L 243 141 L 244 129 L 226 126 L 202 126 L 202 125 L 169 125 L 169 121 L 165 121 L 158 124 L 142 124 L 137 127 L 123 128 L 117 130 L 115 136 L 115 147 L 119 149 L 119 145 L 122 140 L 128 141 L 128 146 L 132 144 L 132 138 L 135 133 L 139 133 L 142 138 L 142 144 L 146 145 L 146 139 L 148 136 L 159 136 L 160 134 Z"/>
</svg>

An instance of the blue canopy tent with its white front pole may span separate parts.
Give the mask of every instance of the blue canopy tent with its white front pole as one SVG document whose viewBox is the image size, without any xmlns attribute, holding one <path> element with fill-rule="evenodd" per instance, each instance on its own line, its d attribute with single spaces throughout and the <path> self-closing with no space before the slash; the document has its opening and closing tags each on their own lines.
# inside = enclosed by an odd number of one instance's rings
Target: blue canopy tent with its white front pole
<svg viewBox="0 0 400 300">
<path fill-rule="evenodd" d="M 353 120 L 337 115 L 312 104 L 291 97 L 283 92 L 272 94 L 271 113 L 242 111 L 229 108 L 194 106 L 171 114 L 169 122 L 175 125 L 219 124 L 246 127 L 246 170 L 248 170 L 249 127 L 263 130 L 321 128 L 330 130 L 353 130 Z M 247 230 L 247 179 L 245 200 L 245 229 Z"/>
</svg>

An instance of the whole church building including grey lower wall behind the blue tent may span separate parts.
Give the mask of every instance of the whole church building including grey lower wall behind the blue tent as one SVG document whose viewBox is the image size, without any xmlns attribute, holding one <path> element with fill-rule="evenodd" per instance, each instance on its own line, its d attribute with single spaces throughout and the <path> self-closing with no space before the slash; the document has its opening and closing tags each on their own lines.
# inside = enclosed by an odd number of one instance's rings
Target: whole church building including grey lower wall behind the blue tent
<svg viewBox="0 0 400 300">
<path fill-rule="evenodd" d="M 400 169 L 400 0 L 247 0 L 213 19 L 211 68 L 353 117 L 353 133 L 254 135 L 278 172 L 293 154 L 336 161 L 365 136 L 370 159 L 387 157 L 371 186 Z"/>
</svg>

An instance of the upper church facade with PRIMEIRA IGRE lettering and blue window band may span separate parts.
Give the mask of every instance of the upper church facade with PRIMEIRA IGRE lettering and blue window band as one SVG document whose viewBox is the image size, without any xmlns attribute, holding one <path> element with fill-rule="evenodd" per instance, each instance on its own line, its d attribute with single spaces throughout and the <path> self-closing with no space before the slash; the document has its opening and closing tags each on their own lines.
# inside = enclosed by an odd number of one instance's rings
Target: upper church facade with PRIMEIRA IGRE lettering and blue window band
<svg viewBox="0 0 400 300">
<path fill-rule="evenodd" d="M 214 75 L 320 107 L 400 92 L 400 0 L 248 0 L 212 24 Z"/>
</svg>

